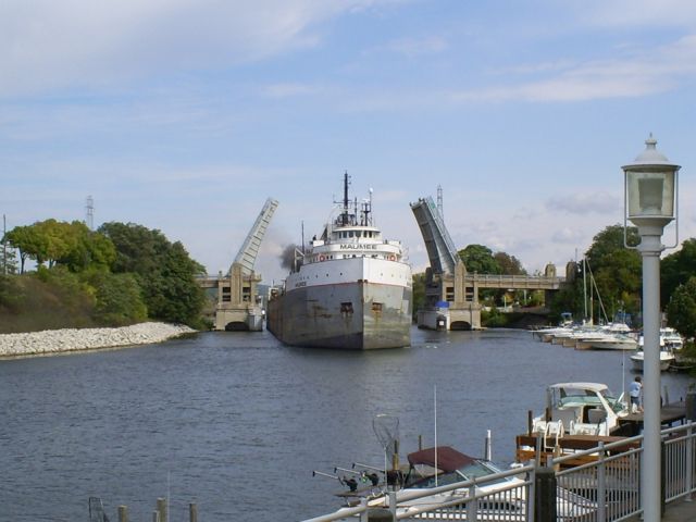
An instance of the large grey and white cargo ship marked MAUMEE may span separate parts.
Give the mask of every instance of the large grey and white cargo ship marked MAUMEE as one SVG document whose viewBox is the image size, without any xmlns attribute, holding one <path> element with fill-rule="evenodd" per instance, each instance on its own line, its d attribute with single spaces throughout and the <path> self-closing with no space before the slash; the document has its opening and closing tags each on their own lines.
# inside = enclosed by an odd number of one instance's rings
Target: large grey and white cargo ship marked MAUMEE
<svg viewBox="0 0 696 522">
<path fill-rule="evenodd" d="M 351 201 L 349 176 L 335 217 L 314 236 L 279 288 L 266 327 L 290 346 L 370 350 L 411 344 L 412 279 L 400 241 L 382 237 L 370 198 Z M 337 214 L 337 215 L 336 215 Z"/>
</svg>

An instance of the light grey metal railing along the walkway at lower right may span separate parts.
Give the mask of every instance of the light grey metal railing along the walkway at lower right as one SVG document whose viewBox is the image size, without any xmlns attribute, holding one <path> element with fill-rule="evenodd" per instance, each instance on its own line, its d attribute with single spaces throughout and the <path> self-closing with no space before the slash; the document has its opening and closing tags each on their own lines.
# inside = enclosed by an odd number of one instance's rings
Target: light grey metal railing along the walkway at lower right
<svg viewBox="0 0 696 522">
<path fill-rule="evenodd" d="M 369 521 L 374 510 L 389 520 L 531 522 L 550 509 L 558 522 L 619 522 L 639 514 L 643 436 L 427 489 L 388 492 L 351 508 L 309 519 Z M 581 465 L 569 465 L 582 462 Z M 557 470 L 549 473 L 549 470 Z M 696 490 L 696 431 L 691 422 L 662 431 L 662 501 L 687 498 Z M 544 475 L 550 475 L 545 483 Z M 535 506 L 536 504 L 536 506 Z M 380 518 L 378 520 L 385 520 Z M 546 519 L 548 520 L 548 519 Z"/>
</svg>

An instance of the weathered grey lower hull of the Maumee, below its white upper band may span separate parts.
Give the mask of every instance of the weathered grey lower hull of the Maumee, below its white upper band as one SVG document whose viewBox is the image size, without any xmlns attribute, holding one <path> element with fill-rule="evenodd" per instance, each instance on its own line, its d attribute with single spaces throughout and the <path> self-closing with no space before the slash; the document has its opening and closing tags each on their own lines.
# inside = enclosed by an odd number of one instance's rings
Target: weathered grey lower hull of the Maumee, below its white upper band
<svg viewBox="0 0 696 522">
<path fill-rule="evenodd" d="M 408 268 L 398 269 L 410 277 Z M 290 346 L 400 348 L 411 344 L 411 301 L 410 285 L 366 277 L 299 286 L 269 301 L 266 327 Z"/>
</svg>

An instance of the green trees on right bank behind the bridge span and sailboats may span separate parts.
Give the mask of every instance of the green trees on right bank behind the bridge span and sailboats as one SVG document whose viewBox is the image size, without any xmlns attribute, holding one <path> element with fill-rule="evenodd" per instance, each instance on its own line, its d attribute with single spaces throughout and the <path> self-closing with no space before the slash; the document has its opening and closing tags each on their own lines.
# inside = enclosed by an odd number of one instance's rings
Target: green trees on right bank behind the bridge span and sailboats
<svg viewBox="0 0 696 522">
<path fill-rule="evenodd" d="M 593 237 L 593 243 L 582 260 L 570 263 L 571 282 L 557 293 L 546 306 L 551 320 L 559 320 L 562 312 L 570 312 L 576 320 L 592 320 L 595 324 L 629 318 L 634 327 L 641 327 L 643 264 L 637 250 L 624 244 L 637 245 L 641 239 L 635 227 L 616 224 L 605 227 Z M 459 250 L 468 272 L 480 274 L 524 275 L 522 263 L 507 252 L 494 252 L 483 245 L 469 245 Z M 423 300 L 425 274 L 414 274 L 414 309 Z M 509 297 L 519 300 L 519 293 L 482 290 L 486 304 L 501 304 Z M 527 304 L 537 304 L 540 294 L 527 296 Z M 587 302 L 593 298 L 594 307 Z M 686 338 L 696 337 L 696 238 L 682 243 L 681 248 L 661 260 L 661 309 L 667 322 Z M 591 316 L 592 308 L 592 316 Z M 482 318 L 488 319 L 488 318 Z M 495 314 L 494 318 L 495 319 Z"/>
</svg>

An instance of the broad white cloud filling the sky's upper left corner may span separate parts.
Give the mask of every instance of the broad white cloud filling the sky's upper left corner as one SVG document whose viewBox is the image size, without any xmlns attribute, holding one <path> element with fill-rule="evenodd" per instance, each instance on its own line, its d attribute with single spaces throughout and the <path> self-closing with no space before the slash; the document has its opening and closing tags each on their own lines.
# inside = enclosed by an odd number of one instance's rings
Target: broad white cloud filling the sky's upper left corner
<svg viewBox="0 0 696 522">
<path fill-rule="evenodd" d="M 104 87 L 261 60 L 321 40 L 332 17 L 388 0 L 8 0 L 0 4 L 0 95 Z"/>
</svg>

